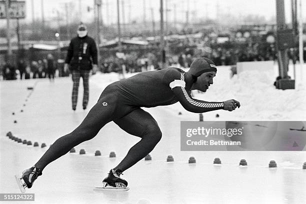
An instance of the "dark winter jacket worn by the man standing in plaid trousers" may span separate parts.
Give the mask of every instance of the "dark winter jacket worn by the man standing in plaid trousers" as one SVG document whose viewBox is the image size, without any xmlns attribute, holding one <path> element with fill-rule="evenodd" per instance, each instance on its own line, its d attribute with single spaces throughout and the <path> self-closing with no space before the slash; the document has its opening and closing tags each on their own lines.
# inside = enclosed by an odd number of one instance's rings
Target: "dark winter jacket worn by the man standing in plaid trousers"
<svg viewBox="0 0 306 204">
<path fill-rule="evenodd" d="M 91 63 L 97 64 L 97 50 L 94 39 L 87 35 L 72 38 L 65 63 L 70 63 L 71 70 L 91 69 Z"/>
</svg>

